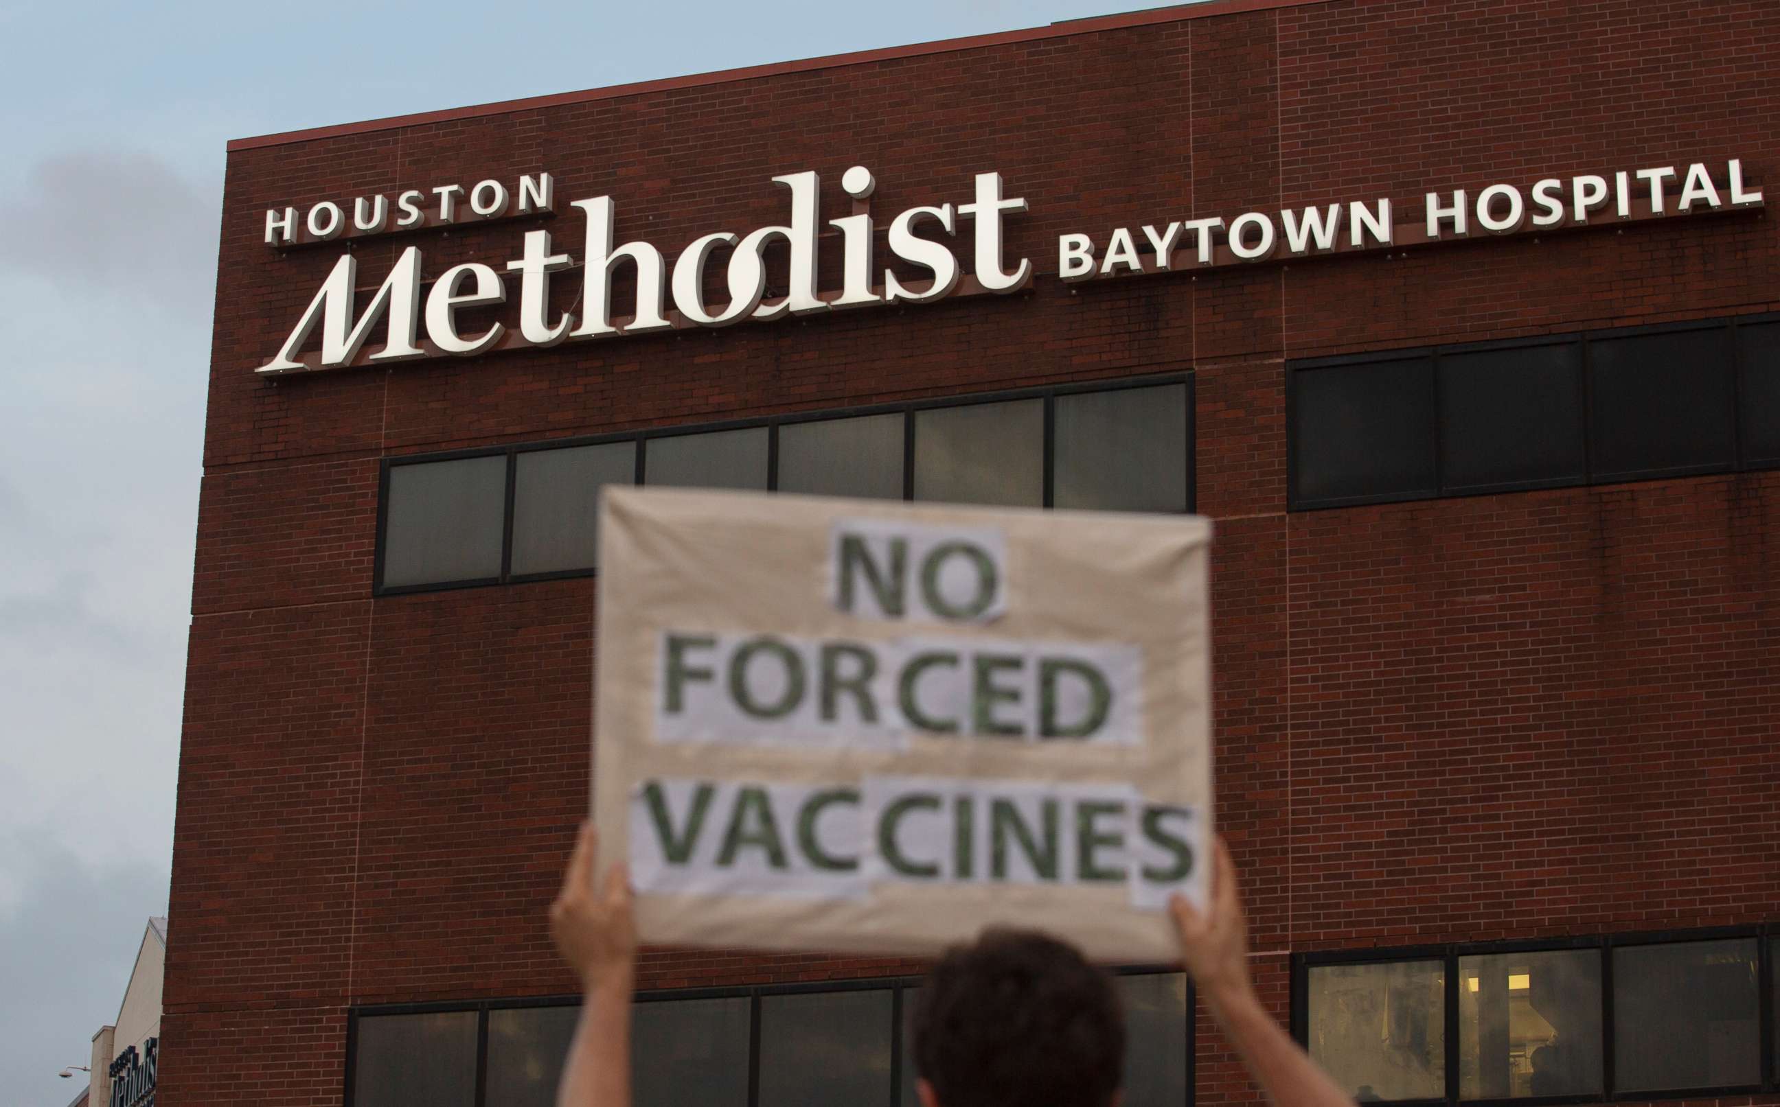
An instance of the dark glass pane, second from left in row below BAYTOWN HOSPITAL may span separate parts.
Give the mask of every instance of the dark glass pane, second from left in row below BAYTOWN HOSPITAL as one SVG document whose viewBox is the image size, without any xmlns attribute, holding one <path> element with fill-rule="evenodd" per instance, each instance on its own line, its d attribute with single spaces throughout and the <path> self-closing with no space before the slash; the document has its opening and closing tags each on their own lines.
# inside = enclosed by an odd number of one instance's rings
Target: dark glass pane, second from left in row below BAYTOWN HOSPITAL
<svg viewBox="0 0 1780 1107">
<path fill-rule="evenodd" d="M 1581 343 L 1440 358 L 1447 489 L 1582 481 L 1584 470 Z"/>
</svg>

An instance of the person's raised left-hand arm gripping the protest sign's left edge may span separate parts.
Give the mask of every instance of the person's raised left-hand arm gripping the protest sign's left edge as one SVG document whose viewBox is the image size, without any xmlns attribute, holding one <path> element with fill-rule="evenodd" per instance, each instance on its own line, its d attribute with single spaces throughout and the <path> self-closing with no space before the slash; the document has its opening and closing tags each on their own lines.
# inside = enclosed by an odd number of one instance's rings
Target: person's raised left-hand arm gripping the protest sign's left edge
<svg viewBox="0 0 1780 1107">
<path fill-rule="evenodd" d="M 550 934 L 580 977 L 582 1007 L 557 1086 L 557 1107 L 630 1107 L 630 993 L 637 981 L 637 924 L 623 863 L 595 890 L 598 835 L 580 826 L 562 892 L 550 904 Z"/>
</svg>

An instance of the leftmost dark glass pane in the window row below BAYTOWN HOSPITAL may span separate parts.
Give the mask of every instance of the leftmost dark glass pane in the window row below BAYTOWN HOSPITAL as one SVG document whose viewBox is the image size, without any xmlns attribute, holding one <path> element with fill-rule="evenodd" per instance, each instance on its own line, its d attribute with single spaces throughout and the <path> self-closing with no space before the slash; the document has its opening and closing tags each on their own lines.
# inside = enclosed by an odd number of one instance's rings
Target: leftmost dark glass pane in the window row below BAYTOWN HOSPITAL
<svg viewBox="0 0 1780 1107">
<path fill-rule="evenodd" d="M 1428 358 L 1294 370 L 1298 502 L 1435 495 Z"/>
</svg>

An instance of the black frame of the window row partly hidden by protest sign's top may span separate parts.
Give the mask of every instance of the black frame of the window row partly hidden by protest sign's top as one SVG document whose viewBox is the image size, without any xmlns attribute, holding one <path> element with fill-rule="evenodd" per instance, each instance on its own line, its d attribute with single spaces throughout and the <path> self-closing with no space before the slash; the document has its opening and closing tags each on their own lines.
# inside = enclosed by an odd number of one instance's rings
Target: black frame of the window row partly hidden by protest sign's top
<svg viewBox="0 0 1780 1107">
<path fill-rule="evenodd" d="M 732 418 L 705 424 L 675 424 L 662 427 L 643 427 L 637 431 L 616 431 L 609 434 L 584 434 L 575 438 L 552 438 L 545 441 L 523 441 L 513 445 L 498 447 L 472 447 L 461 450 L 441 450 L 431 454 L 395 454 L 384 456 L 377 468 L 377 537 L 376 537 L 376 555 L 372 559 L 372 587 L 370 594 L 374 598 L 381 596 L 406 596 L 415 593 L 443 593 L 463 587 L 490 587 L 500 584 L 532 584 L 539 580 L 568 580 L 577 577 L 596 577 L 598 568 L 591 570 L 557 570 L 550 573 L 514 573 L 513 571 L 513 497 L 514 484 L 518 481 L 518 456 L 534 450 L 561 450 L 571 447 L 591 447 L 591 445 L 611 445 L 621 441 L 635 443 L 635 457 L 632 463 L 632 482 L 635 486 L 648 486 L 648 443 L 660 438 L 682 438 L 687 434 L 708 434 L 714 431 L 746 431 L 751 427 L 767 429 L 767 491 L 778 491 L 778 432 L 780 427 L 790 424 L 812 424 L 835 418 L 853 418 L 862 415 L 901 415 L 902 416 L 902 500 L 913 502 L 915 498 L 915 413 L 929 411 L 938 408 L 970 408 L 975 404 L 999 404 L 1007 400 L 1045 400 L 1043 411 L 1043 504 L 1045 511 L 1050 511 L 1056 498 L 1056 436 L 1057 436 L 1057 397 L 1059 395 L 1077 395 L 1089 392 L 1123 392 L 1127 388 L 1155 388 L 1164 384 L 1184 384 L 1185 386 L 1185 420 L 1187 420 L 1187 448 L 1185 448 L 1185 468 L 1187 468 L 1187 505 L 1182 514 L 1193 514 L 1198 509 L 1198 429 L 1196 429 L 1196 376 L 1193 370 L 1152 374 L 1139 377 L 1114 377 L 1098 381 L 1072 381 L 1068 384 L 1048 384 L 1036 388 L 1009 388 L 999 392 L 977 392 L 967 395 L 947 395 L 947 397 L 926 397 L 918 400 L 897 400 L 888 404 L 865 404 L 858 408 L 822 408 L 813 411 L 790 411 L 781 415 L 762 415 L 755 418 Z M 383 559 L 384 548 L 388 545 L 388 525 L 390 525 L 390 470 L 404 465 L 427 465 L 434 461 L 459 461 L 465 457 L 507 457 L 507 498 L 504 507 L 504 530 L 500 537 L 500 577 L 482 577 L 475 580 L 449 580 L 438 584 L 402 584 L 386 587 L 383 584 Z M 894 504 L 897 500 L 885 500 Z"/>
</svg>

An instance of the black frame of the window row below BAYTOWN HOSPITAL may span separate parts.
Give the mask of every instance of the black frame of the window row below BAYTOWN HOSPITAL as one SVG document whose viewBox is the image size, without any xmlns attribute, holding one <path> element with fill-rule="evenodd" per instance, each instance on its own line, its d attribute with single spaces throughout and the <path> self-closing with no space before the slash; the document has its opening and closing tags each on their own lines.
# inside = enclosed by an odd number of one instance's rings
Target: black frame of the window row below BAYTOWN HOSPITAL
<svg viewBox="0 0 1780 1107">
<path fill-rule="evenodd" d="M 1661 324 L 1643 324 L 1643 326 L 1623 326 L 1623 327 L 1598 327 L 1590 331 L 1554 331 L 1547 335 L 1524 335 L 1518 338 L 1499 338 L 1488 342 L 1460 342 L 1460 343 L 1438 343 L 1438 345 L 1415 345 L 1399 347 L 1385 351 L 1365 351 L 1355 354 L 1337 354 L 1330 358 L 1303 358 L 1285 363 L 1285 507 L 1287 511 L 1324 511 L 1335 507 L 1358 507 L 1371 504 L 1406 504 L 1406 502 L 1426 502 L 1426 500 L 1456 500 L 1463 497 L 1486 497 L 1501 495 L 1511 491 L 1538 491 L 1547 488 L 1588 488 L 1602 484 L 1632 484 L 1639 481 L 1673 481 L 1680 477 L 1705 477 L 1719 473 L 1748 473 L 1780 468 L 1780 457 L 1764 459 L 1750 457 L 1748 445 L 1743 441 L 1744 427 L 1744 377 L 1748 367 L 1741 356 L 1741 345 L 1737 342 L 1739 326 L 1757 326 L 1780 322 L 1780 311 L 1762 311 L 1752 315 L 1719 315 L 1711 319 L 1689 319 L 1679 322 L 1661 322 Z M 1728 361 L 1725 363 L 1725 372 L 1730 376 L 1730 397 L 1732 397 L 1732 454 L 1734 461 L 1730 466 L 1721 465 L 1682 465 L 1668 468 L 1648 468 L 1648 470 L 1623 470 L 1623 472 L 1598 472 L 1595 461 L 1595 425 L 1593 425 L 1593 388 L 1595 388 L 1595 363 L 1591 356 L 1591 345 L 1595 342 L 1606 342 L 1614 338 L 1638 338 L 1645 335 L 1673 335 L 1684 331 L 1711 331 L 1723 329 L 1725 342 L 1730 351 Z M 1440 360 L 1444 356 L 1456 354 L 1477 354 L 1477 352 L 1495 352 L 1527 347 L 1547 347 L 1547 345 L 1579 345 L 1579 402 L 1581 402 L 1581 434 L 1582 434 L 1582 477 L 1552 477 L 1536 481 L 1509 481 L 1495 484 L 1477 484 L 1477 486 L 1449 486 L 1444 472 L 1444 438 L 1445 431 L 1440 424 Z M 1298 493 L 1298 404 L 1299 404 L 1299 384 L 1298 377 L 1303 372 L 1315 372 L 1321 368 L 1340 368 L 1346 365 L 1371 365 L 1380 361 L 1397 361 L 1428 358 L 1431 383 L 1435 397 L 1435 420 L 1429 427 L 1435 445 L 1435 491 L 1433 493 L 1381 493 L 1381 495 L 1360 495 L 1360 497 L 1323 497 L 1323 498 L 1305 498 Z"/>
</svg>

